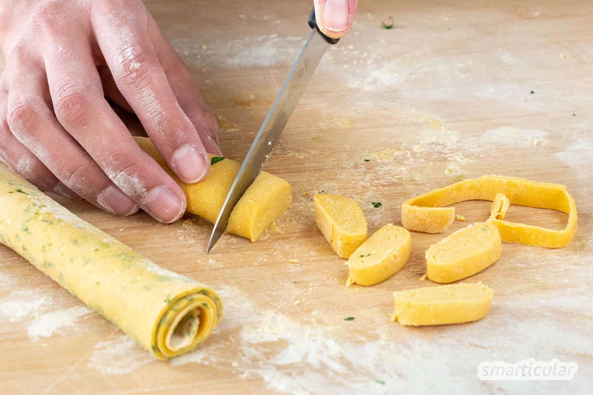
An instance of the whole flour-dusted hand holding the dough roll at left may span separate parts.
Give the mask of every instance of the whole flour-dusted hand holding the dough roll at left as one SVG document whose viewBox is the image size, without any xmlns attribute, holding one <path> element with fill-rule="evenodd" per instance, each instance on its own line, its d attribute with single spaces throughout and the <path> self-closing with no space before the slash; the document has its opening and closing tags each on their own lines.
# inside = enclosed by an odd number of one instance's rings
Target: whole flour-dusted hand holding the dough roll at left
<svg viewBox="0 0 593 395">
<path fill-rule="evenodd" d="M 0 0 L 0 155 L 45 191 L 177 220 L 186 199 L 106 98 L 138 115 L 184 182 L 220 155 L 192 75 L 140 0 Z"/>
</svg>

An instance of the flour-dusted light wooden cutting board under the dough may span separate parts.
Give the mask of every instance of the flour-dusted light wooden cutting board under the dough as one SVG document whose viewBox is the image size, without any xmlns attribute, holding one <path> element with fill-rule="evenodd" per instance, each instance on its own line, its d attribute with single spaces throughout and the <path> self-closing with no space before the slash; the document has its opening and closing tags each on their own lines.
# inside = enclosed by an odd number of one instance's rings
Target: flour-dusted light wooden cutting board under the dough
<svg viewBox="0 0 593 395">
<path fill-rule="evenodd" d="M 223 152 L 243 159 L 308 34 L 311 4 L 146 5 L 218 114 Z M 390 16 L 393 29 L 381 28 Z M 211 338 L 156 361 L 0 246 L 0 392 L 584 393 L 593 384 L 592 17 L 587 0 L 361 2 L 266 164 L 291 183 L 294 202 L 263 240 L 227 235 L 206 256 L 211 224 L 59 200 L 217 290 L 224 319 Z M 388 319 L 393 291 L 431 284 L 419 281 L 424 251 L 486 219 L 485 202 L 458 205 L 466 221 L 441 235 L 413 233 L 410 261 L 389 280 L 345 287 L 345 261 L 315 227 L 313 194 L 358 201 L 370 234 L 398 224 L 407 198 L 483 174 L 565 184 L 579 210 L 566 248 L 505 243 L 496 264 L 467 279 L 495 290 L 485 319 L 419 328 Z M 560 229 L 566 217 L 512 207 L 508 219 Z M 482 361 L 526 358 L 579 370 L 566 382 L 477 378 Z"/>
</svg>

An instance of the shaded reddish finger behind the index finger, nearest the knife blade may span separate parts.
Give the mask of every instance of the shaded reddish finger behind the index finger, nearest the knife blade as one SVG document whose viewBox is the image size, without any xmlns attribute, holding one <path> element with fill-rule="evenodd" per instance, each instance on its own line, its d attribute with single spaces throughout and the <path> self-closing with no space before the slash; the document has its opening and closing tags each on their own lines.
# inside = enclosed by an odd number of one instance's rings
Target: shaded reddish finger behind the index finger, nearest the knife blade
<svg viewBox="0 0 593 395">
<path fill-rule="evenodd" d="M 148 30 L 158 60 L 161 62 L 173 94 L 184 113 L 192 121 L 200 140 L 206 147 L 206 151 L 213 155 L 222 156 L 218 145 L 218 122 L 216 122 L 214 114 L 197 91 L 192 73 L 190 73 L 173 45 L 162 35 L 157 23 L 150 15 Z"/>
</svg>

